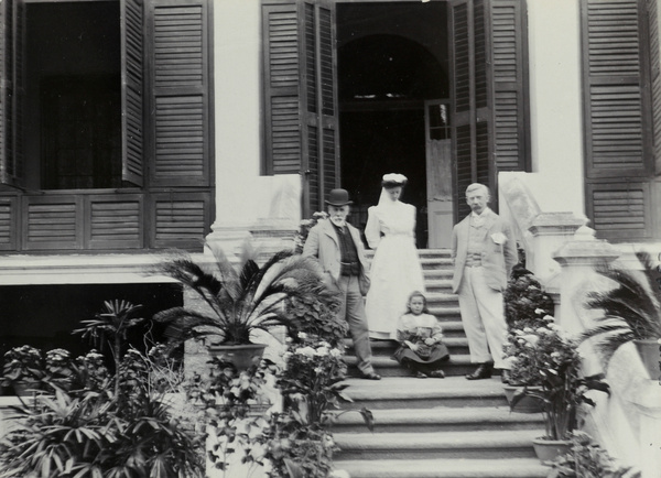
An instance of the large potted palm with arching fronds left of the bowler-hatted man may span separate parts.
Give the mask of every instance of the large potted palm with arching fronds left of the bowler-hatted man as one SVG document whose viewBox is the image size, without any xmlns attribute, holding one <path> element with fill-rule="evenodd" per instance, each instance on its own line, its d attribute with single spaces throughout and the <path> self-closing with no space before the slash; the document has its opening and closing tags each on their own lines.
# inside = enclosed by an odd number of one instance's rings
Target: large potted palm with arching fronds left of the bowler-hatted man
<svg viewBox="0 0 661 478">
<path fill-rule="evenodd" d="M 231 360 L 239 369 L 247 368 L 266 347 L 252 341 L 257 330 L 286 325 L 289 305 L 296 298 L 328 296 L 322 270 L 312 258 L 283 250 L 260 268 L 246 243 L 241 263 L 235 269 L 220 248 L 207 247 L 214 257 L 209 270 L 185 252 L 174 252 L 158 268 L 193 291 L 204 305 L 195 309 L 172 307 L 154 316 L 165 325 L 164 335 L 171 345 L 203 338 L 210 352 Z"/>
</svg>

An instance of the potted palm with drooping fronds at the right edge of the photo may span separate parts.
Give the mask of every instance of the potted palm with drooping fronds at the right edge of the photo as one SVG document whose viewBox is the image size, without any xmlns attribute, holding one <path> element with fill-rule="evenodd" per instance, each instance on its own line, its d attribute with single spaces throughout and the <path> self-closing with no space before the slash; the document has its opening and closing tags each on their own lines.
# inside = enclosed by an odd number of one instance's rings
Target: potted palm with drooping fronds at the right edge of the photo
<svg viewBox="0 0 661 478">
<path fill-rule="evenodd" d="M 636 344 L 650 378 L 659 378 L 661 359 L 661 270 L 647 252 L 636 254 L 642 271 L 615 267 L 598 270 L 614 281 L 615 286 L 604 292 L 592 292 L 586 306 L 600 309 L 593 327 L 581 339 L 594 339 L 595 348 L 606 367 L 622 344 Z"/>
</svg>

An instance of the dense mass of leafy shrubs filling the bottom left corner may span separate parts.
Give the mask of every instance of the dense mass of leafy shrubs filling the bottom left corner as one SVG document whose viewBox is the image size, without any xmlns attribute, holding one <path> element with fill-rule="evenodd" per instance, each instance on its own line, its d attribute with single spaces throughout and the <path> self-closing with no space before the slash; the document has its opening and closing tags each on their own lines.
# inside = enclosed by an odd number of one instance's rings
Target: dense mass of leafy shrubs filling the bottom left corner
<svg viewBox="0 0 661 478">
<path fill-rule="evenodd" d="M 80 332 L 107 339 L 119 354 L 127 328 L 138 323 L 133 311 L 130 303 L 107 302 Z M 14 408 L 15 427 L 0 442 L 0 477 L 203 476 L 204 443 L 165 400 L 173 389 L 153 387 L 152 376 L 162 377 L 163 367 L 134 349 L 115 360 L 112 377 L 96 351 L 76 360 L 63 349 L 46 354 L 44 381 L 54 398 L 40 395 Z"/>
</svg>

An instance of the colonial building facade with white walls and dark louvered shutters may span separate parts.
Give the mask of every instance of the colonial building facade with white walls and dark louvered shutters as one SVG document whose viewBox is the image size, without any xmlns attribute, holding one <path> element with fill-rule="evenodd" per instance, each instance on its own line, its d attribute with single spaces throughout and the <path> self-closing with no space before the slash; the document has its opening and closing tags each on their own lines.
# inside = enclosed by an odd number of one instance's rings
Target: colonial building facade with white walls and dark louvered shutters
<svg viewBox="0 0 661 478">
<path fill-rule="evenodd" d="M 420 248 L 448 246 L 472 182 L 512 217 L 511 178 L 658 243 L 658 3 L 3 0 L 4 344 L 51 344 L 113 294 L 182 301 L 155 252 L 279 247 L 332 187 L 360 227 L 389 172 Z"/>
</svg>

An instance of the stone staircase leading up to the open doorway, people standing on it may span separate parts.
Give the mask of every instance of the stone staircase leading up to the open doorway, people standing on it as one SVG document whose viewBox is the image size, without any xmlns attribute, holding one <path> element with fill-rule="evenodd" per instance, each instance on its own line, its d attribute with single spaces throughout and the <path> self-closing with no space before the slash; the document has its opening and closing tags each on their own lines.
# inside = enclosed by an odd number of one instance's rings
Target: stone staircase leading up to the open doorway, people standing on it
<svg viewBox="0 0 661 478">
<path fill-rule="evenodd" d="M 446 379 L 416 379 L 392 359 L 397 345 L 372 341 L 380 381 L 349 378 L 345 410 L 367 408 L 373 433 L 359 413 L 334 426 L 340 448 L 335 466 L 351 478 L 538 478 L 549 467 L 534 456 L 532 438 L 543 435 L 540 414 L 510 413 L 499 377 L 468 381 L 473 370 L 447 250 L 421 250 L 429 308 L 443 326 L 451 361 Z M 357 376 L 348 349 L 349 374 Z"/>
</svg>

